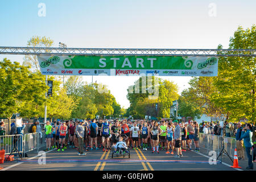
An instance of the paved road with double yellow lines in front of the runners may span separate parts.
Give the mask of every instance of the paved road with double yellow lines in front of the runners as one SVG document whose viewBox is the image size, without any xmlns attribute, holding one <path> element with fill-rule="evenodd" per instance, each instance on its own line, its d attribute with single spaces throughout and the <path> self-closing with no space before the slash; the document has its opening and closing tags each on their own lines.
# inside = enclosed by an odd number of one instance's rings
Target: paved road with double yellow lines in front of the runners
<svg viewBox="0 0 256 182">
<path fill-rule="evenodd" d="M 64 152 L 56 150 L 48 151 L 46 154 L 46 164 L 38 164 L 40 156 L 30 153 L 29 158 L 23 159 L 20 163 L 5 162 L 1 164 L 2 170 L 85 170 L 85 171 L 174 171 L 174 170 L 225 170 L 234 171 L 236 169 L 225 166 L 223 163 L 210 165 L 208 158 L 194 151 L 183 152 L 183 158 L 174 158 L 174 155 L 152 154 L 151 150 L 131 151 L 130 159 L 119 157 L 112 159 L 112 152 L 88 151 L 87 155 L 79 156 L 75 149 L 68 149 Z M 32 157 L 35 156 L 35 157 Z"/>
</svg>

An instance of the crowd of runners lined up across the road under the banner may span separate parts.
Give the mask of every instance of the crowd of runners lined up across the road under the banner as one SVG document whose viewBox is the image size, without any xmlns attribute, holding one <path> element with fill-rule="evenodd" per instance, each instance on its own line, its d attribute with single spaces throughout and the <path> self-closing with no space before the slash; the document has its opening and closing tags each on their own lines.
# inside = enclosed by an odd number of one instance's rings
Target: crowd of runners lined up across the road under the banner
<svg viewBox="0 0 256 182">
<path fill-rule="evenodd" d="M 192 150 L 192 140 L 195 151 L 199 152 L 199 123 L 196 121 L 146 121 L 146 120 L 109 120 L 88 119 L 80 121 L 60 121 L 46 123 L 47 151 L 56 148 L 64 151 L 76 148 L 78 155 L 86 155 L 84 151 L 112 149 L 119 138 L 125 141 L 130 150 L 151 150 L 159 154 L 183 156 L 182 152 Z M 176 152 L 175 152 L 176 151 Z"/>
</svg>

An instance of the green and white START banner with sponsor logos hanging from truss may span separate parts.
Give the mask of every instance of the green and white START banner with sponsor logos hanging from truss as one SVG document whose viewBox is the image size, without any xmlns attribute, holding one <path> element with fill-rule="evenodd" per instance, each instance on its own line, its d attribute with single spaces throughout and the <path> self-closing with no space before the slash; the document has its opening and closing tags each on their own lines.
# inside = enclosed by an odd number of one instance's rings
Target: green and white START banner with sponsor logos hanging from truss
<svg viewBox="0 0 256 182">
<path fill-rule="evenodd" d="M 218 57 L 38 56 L 43 75 L 217 76 Z"/>
</svg>

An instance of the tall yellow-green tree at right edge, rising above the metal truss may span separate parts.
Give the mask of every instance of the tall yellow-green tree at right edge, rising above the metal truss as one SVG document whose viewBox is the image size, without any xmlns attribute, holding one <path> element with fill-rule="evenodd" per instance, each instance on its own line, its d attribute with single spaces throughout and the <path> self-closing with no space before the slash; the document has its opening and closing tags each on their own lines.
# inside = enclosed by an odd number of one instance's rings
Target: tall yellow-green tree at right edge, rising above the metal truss
<svg viewBox="0 0 256 182">
<path fill-rule="evenodd" d="M 255 24 L 246 30 L 238 27 L 229 42 L 229 49 L 255 49 Z M 218 92 L 212 95 L 212 101 L 229 113 L 230 120 L 247 118 L 255 123 L 255 73 L 255 57 L 218 59 L 218 76 L 214 78 Z"/>
</svg>

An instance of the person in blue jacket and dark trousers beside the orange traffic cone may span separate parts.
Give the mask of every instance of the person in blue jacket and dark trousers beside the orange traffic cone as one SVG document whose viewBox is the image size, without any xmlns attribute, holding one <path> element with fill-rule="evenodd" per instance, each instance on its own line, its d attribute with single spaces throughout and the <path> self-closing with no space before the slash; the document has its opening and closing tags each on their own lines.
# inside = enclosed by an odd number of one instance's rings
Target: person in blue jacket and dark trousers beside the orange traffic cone
<svg viewBox="0 0 256 182">
<path fill-rule="evenodd" d="M 253 146 L 253 142 L 251 137 L 253 137 L 253 132 L 251 131 L 252 125 L 247 123 L 245 125 L 245 129 L 242 129 L 241 139 L 245 143 L 245 151 L 248 158 L 248 167 L 246 169 L 253 169 L 253 159 L 252 159 L 252 150 L 251 147 Z M 246 130 L 246 131 L 245 131 Z"/>
</svg>

